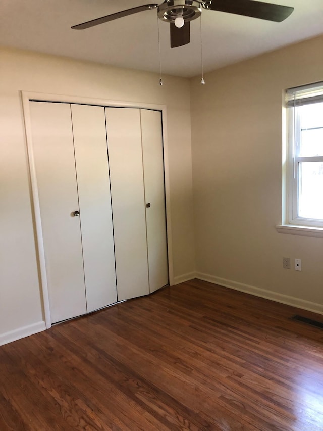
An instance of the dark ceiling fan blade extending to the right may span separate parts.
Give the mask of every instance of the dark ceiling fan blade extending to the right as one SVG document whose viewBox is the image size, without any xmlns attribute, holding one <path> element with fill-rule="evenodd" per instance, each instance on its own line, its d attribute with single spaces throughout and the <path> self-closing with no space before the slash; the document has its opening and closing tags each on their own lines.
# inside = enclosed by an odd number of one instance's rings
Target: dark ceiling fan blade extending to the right
<svg viewBox="0 0 323 431">
<path fill-rule="evenodd" d="M 230 14 L 260 18 L 268 21 L 282 22 L 290 16 L 294 8 L 274 5 L 273 3 L 255 0 L 206 0 L 202 2 L 204 9 L 229 12 Z"/>
</svg>

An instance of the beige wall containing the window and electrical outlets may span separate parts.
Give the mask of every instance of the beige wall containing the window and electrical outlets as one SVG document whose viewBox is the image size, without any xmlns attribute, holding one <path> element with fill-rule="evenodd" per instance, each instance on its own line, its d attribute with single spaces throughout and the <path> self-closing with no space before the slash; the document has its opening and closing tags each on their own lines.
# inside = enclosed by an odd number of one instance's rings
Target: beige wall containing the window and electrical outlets
<svg viewBox="0 0 323 431">
<path fill-rule="evenodd" d="M 319 80 L 323 36 L 191 80 L 191 124 L 198 275 L 323 313 L 323 239 L 275 229 L 282 93 Z M 283 269 L 283 256 L 302 259 L 302 272 Z"/>
</svg>

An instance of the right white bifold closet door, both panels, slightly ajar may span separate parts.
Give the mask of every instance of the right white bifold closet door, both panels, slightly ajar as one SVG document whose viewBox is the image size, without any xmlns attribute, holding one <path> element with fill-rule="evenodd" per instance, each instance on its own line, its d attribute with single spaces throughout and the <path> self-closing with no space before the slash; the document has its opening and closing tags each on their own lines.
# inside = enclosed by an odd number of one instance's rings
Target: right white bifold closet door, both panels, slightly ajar
<svg viewBox="0 0 323 431">
<path fill-rule="evenodd" d="M 105 108 L 118 300 L 168 283 L 161 114 Z"/>
</svg>

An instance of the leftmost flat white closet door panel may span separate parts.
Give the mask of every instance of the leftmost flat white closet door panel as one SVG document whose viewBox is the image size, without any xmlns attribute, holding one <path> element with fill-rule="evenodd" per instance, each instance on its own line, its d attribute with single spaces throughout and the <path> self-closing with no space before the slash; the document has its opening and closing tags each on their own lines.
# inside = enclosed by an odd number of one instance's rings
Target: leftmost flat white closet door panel
<svg viewBox="0 0 323 431">
<path fill-rule="evenodd" d="M 30 102 L 51 322 L 86 313 L 71 108 Z"/>
</svg>

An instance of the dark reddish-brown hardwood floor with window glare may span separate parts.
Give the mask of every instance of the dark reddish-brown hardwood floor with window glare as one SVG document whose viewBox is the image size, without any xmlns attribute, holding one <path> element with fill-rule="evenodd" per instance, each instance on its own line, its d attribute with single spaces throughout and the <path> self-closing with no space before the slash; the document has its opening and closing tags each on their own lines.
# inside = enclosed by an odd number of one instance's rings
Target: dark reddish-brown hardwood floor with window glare
<svg viewBox="0 0 323 431">
<path fill-rule="evenodd" d="M 192 280 L 0 347 L 0 430 L 323 430 L 323 330 Z"/>
</svg>

